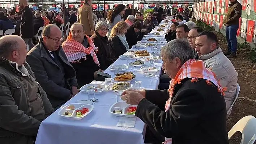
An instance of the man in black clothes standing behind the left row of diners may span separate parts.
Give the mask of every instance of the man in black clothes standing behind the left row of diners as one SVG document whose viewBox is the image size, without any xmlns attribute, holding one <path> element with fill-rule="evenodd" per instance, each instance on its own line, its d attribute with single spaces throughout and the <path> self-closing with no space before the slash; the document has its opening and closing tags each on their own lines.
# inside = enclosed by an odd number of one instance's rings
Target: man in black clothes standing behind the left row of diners
<svg viewBox="0 0 256 144">
<path fill-rule="evenodd" d="M 33 12 L 27 5 L 27 0 L 19 0 L 21 10 L 21 38 L 29 45 L 29 49 L 33 47 L 32 38 L 34 37 L 34 18 Z"/>
</svg>

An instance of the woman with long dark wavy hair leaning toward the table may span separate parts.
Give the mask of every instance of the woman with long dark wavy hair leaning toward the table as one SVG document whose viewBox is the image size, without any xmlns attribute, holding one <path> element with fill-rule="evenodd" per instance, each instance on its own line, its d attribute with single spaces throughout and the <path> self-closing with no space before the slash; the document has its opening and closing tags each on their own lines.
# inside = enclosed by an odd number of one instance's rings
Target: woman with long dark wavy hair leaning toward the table
<svg viewBox="0 0 256 144">
<path fill-rule="evenodd" d="M 119 4 L 115 6 L 114 9 L 110 10 L 107 14 L 107 24 L 108 24 L 108 32 L 107 36 L 110 36 L 110 32 L 112 27 L 116 25 L 116 23 L 123 21 L 123 15 L 125 13 L 125 5 Z"/>
</svg>

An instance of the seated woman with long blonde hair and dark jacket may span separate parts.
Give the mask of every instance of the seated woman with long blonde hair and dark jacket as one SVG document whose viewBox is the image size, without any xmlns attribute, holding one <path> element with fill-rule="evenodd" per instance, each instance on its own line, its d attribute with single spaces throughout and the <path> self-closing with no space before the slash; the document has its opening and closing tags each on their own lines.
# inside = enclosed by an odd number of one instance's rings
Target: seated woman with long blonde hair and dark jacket
<svg viewBox="0 0 256 144">
<path fill-rule="evenodd" d="M 125 21 L 120 21 L 112 28 L 108 41 L 112 46 L 115 57 L 118 58 L 129 49 L 125 33 L 129 26 Z"/>
</svg>

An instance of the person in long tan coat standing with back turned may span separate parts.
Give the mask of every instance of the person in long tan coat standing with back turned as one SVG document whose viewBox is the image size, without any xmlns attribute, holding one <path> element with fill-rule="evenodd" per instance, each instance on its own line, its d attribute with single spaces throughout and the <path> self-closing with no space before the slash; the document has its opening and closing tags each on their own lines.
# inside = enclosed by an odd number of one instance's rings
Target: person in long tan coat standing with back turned
<svg viewBox="0 0 256 144">
<path fill-rule="evenodd" d="M 85 0 L 85 3 L 78 8 L 77 22 L 84 25 L 85 34 L 91 37 L 94 34 L 93 9 L 91 0 Z"/>
</svg>

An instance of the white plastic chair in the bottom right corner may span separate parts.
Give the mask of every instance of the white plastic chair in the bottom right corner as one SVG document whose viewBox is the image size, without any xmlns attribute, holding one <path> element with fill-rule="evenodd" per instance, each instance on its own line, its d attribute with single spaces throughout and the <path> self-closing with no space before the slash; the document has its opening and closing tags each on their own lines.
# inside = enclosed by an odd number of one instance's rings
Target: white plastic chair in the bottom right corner
<svg viewBox="0 0 256 144">
<path fill-rule="evenodd" d="M 240 144 L 253 144 L 256 140 L 256 118 L 252 115 L 248 115 L 240 119 L 227 133 L 229 139 L 237 131 L 242 133 Z"/>
</svg>

